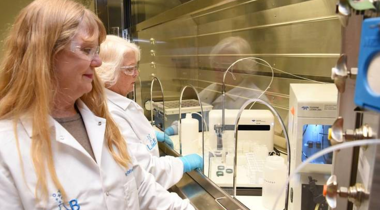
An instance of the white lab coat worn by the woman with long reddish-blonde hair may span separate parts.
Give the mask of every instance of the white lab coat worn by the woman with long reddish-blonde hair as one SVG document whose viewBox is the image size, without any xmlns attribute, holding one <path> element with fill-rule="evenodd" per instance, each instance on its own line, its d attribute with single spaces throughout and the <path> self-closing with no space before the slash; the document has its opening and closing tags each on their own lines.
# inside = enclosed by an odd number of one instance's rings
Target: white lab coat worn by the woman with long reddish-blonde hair
<svg viewBox="0 0 380 210">
<path fill-rule="evenodd" d="M 49 118 L 55 170 L 67 194 L 64 204 L 50 175 L 46 176 L 48 200 L 36 200 L 37 178 L 30 155 L 31 119 L 23 116 L 17 124 L 25 174 L 21 170 L 13 122 L 0 121 L 0 209 L 194 209 L 188 200 L 182 200 L 157 184 L 138 164 L 131 164 L 127 170 L 119 166 L 106 146 L 105 119 L 96 117 L 81 101 L 77 106 L 96 162 L 68 131 Z"/>
</svg>

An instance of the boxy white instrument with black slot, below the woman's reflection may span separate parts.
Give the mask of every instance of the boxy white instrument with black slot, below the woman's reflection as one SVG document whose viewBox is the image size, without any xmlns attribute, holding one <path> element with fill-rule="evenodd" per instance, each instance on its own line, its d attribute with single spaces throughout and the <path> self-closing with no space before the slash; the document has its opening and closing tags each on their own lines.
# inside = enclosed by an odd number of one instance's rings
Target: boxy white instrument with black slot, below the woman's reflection
<svg viewBox="0 0 380 210">
<path fill-rule="evenodd" d="M 222 110 L 209 113 L 208 145 L 213 156 L 209 160 L 209 178 L 222 187 L 231 187 L 233 158 L 235 157 L 234 130 L 239 110 L 226 109 L 223 135 L 218 129 L 222 123 Z M 274 117 L 268 110 L 244 110 L 238 126 L 238 186 L 262 187 L 263 160 L 273 150 Z M 265 154 L 262 154 L 262 151 Z M 220 170 L 220 168 L 225 168 Z"/>
</svg>

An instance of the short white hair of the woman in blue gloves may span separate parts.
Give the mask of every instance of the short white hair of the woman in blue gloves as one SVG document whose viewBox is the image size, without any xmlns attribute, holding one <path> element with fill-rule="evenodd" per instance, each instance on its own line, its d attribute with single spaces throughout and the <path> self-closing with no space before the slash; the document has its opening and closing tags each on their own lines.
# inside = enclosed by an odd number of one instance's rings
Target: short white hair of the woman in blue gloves
<svg viewBox="0 0 380 210">
<path fill-rule="evenodd" d="M 123 64 L 124 55 L 127 52 L 134 52 L 137 62 L 140 61 L 140 48 L 127 40 L 107 35 L 106 40 L 100 45 L 99 56 L 103 64 L 96 68 L 96 73 L 102 79 L 106 87 L 116 84 L 120 74 L 120 67 Z"/>
</svg>

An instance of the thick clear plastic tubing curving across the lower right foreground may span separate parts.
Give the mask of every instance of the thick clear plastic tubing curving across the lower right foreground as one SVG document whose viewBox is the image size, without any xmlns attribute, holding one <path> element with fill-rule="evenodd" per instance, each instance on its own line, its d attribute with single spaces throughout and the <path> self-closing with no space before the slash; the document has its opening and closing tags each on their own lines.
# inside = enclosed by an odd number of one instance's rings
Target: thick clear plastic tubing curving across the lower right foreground
<svg viewBox="0 0 380 210">
<path fill-rule="evenodd" d="M 358 146 L 364 146 L 364 145 L 374 145 L 374 144 L 380 144 L 380 139 L 367 139 L 367 140 L 357 140 L 357 141 L 352 141 L 352 142 L 345 142 L 345 143 L 342 143 L 342 144 L 338 144 L 338 145 L 334 145 L 334 146 L 328 147 L 328 148 L 326 148 L 324 150 L 321 150 L 321 151 L 315 153 L 314 155 L 312 155 L 311 157 L 309 157 L 308 159 L 306 159 L 301 165 L 299 165 L 292 174 L 290 174 L 290 176 L 286 180 L 286 183 L 283 185 L 283 187 L 281 188 L 280 192 L 277 194 L 276 201 L 273 204 L 272 210 L 275 210 L 275 206 L 277 206 L 277 203 L 280 200 L 281 194 L 284 192 L 286 186 L 288 186 L 289 181 L 291 179 L 293 179 L 293 177 L 296 174 L 298 174 L 299 171 L 302 168 L 304 168 L 307 164 L 309 164 L 311 161 L 313 161 L 313 160 L 315 160 L 315 159 L 317 159 L 319 157 L 322 157 L 323 155 L 326 155 L 326 154 L 328 154 L 330 152 L 334 152 L 336 150 L 339 150 L 339 149 L 347 149 L 347 148 L 351 148 L 351 147 L 358 147 Z"/>
</svg>

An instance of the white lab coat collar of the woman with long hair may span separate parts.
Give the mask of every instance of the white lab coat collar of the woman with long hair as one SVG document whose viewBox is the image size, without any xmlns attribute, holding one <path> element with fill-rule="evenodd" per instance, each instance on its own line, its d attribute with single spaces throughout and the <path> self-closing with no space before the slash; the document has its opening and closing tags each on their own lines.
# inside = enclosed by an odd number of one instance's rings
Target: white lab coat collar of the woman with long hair
<svg viewBox="0 0 380 210">
<path fill-rule="evenodd" d="M 87 135 L 94 151 L 95 158 L 97 162 L 100 163 L 105 138 L 106 120 L 104 118 L 95 116 L 86 106 L 86 104 L 84 104 L 81 100 L 77 100 L 76 105 L 86 127 Z M 28 136 L 32 138 L 32 118 L 30 116 L 24 115 L 21 117 L 20 121 Z M 87 151 L 85 151 L 79 142 L 61 124 L 54 120 L 53 117 L 49 116 L 48 122 L 50 129 L 55 132 L 55 139 L 57 142 L 71 146 L 91 158 L 91 156 Z"/>
</svg>

